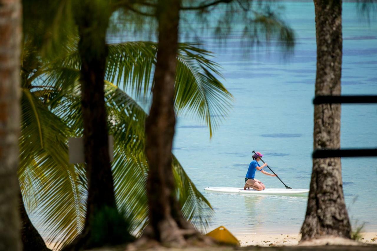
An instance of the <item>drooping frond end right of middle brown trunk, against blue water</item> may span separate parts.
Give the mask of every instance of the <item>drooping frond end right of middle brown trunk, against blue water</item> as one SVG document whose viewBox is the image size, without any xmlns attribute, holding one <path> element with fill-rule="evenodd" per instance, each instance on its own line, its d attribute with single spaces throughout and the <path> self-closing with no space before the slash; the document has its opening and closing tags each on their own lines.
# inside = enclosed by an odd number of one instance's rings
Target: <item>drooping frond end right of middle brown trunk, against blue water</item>
<svg viewBox="0 0 377 251">
<path fill-rule="evenodd" d="M 179 44 L 175 84 L 175 110 L 191 112 L 205 121 L 210 130 L 218 126 L 231 107 L 232 95 L 216 78 L 219 65 L 208 59 L 211 52 L 193 44 Z"/>
</svg>

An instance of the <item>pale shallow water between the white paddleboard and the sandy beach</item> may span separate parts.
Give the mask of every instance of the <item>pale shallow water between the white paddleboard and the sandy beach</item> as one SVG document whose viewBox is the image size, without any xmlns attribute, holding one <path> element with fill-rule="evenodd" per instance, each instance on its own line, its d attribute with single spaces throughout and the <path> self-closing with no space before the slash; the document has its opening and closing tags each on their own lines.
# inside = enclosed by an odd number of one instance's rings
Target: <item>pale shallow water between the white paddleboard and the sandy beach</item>
<svg viewBox="0 0 377 251">
<path fill-rule="evenodd" d="M 215 210 L 209 229 L 224 225 L 234 234 L 298 233 L 307 205 L 307 196 L 210 192 L 205 197 Z"/>
</svg>

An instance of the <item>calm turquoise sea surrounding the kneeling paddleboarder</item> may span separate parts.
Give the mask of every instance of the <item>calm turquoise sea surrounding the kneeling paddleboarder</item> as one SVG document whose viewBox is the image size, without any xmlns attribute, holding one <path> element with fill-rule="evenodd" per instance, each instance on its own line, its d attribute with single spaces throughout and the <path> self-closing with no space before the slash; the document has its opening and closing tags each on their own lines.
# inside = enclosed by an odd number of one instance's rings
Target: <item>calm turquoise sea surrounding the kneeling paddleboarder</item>
<svg viewBox="0 0 377 251">
<path fill-rule="evenodd" d="M 253 150 L 290 187 L 309 188 L 313 151 L 316 38 L 313 3 L 281 2 L 296 32 L 294 55 L 284 60 L 273 45 L 247 54 L 235 28 L 227 46 L 203 37 L 224 68 L 234 96 L 226 120 L 209 131 L 190 116 L 178 118 L 173 153 L 199 190 L 243 187 Z M 224 48 L 227 49 L 224 49 Z M 246 55 L 246 56 L 245 56 Z M 377 94 L 377 22 L 360 20 L 355 3 L 343 4 L 342 94 Z M 343 105 L 341 145 L 377 147 L 377 105 Z M 343 188 L 352 224 L 377 231 L 377 158 L 343 158 Z M 268 188 L 284 188 L 277 178 L 257 173 Z M 298 232 L 307 197 L 204 193 L 215 210 L 211 228 L 234 233 Z M 357 222 L 357 223 L 356 223 Z"/>
</svg>

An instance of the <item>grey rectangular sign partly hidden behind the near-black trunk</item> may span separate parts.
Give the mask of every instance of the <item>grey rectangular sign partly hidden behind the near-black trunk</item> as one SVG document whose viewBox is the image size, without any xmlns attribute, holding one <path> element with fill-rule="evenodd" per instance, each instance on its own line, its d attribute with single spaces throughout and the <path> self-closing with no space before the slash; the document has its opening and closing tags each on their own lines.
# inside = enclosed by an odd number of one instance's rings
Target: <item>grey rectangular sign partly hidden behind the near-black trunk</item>
<svg viewBox="0 0 377 251">
<path fill-rule="evenodd" d="M 83 138 L 69 138 L 68 151 L 69 151 L 70 164 L 85 163 Z M 113 161 L 114 160 L 114 138 L 112 135 L 109 135 L 109 156 L 110 156 L 110 161 Z"/>
</svg>

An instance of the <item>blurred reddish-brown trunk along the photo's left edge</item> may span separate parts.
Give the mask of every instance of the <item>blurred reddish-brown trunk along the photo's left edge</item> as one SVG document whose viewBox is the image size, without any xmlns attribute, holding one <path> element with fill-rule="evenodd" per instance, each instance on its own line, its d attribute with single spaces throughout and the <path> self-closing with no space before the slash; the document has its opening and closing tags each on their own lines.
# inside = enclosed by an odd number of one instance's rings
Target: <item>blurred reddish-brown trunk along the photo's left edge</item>
<svg viewBox="0 0 377 251">
<path fill-rule="evenodd" d="M 18 202 L 21 12 L 19 0 L 0 0 L 0 249 L 21 250 Z"/>
</svg>

